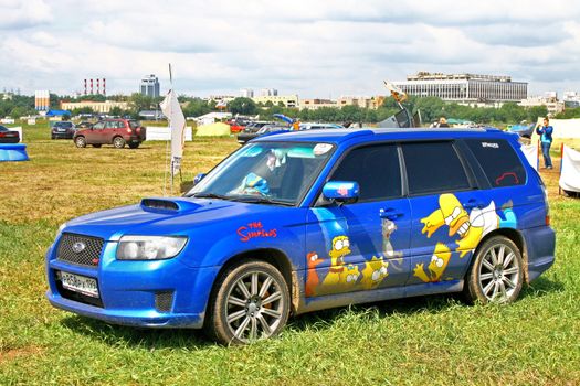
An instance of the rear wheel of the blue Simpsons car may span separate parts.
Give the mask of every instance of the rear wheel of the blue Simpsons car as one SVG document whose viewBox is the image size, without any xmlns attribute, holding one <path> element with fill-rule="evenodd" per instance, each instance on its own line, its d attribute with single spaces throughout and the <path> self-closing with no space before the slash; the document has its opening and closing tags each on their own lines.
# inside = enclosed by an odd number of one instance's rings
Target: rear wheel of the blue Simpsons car
<svg viewBox="0 0 580 386">
<path fill-rule="evenodd" d="M 509 238 L 494 236 L 477 248 L 463 293 L 470 303 L 510 303 L 523 285 L 521 253 Z"/>
</svg>

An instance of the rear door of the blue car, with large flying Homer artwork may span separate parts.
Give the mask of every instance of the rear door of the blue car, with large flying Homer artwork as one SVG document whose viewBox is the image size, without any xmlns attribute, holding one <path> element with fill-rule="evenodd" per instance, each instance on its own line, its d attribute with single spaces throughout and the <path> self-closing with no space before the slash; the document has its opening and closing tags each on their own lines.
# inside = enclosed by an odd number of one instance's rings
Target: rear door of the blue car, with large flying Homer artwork
<svg viewBox="0 0 580 386">
<path fill-rule="evenodd" d="M 411 210 L 409 285 L 463 277 L 483 237 L 479 216 L 489 205 L 453 141 L 401 144 Z"/>
</svg>

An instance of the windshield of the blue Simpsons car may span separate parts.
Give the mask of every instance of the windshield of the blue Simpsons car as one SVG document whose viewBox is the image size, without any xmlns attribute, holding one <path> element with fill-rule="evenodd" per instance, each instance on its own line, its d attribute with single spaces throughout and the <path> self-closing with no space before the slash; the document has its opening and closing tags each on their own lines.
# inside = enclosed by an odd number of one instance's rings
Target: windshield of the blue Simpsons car
<svg viewBox="0 0 580 386">
<path fill-rule="evenodd" d="M 187 196 L 295 205 L 334 151 L 320 142 L 256 142 L 231 154 Z"/>
</svg>

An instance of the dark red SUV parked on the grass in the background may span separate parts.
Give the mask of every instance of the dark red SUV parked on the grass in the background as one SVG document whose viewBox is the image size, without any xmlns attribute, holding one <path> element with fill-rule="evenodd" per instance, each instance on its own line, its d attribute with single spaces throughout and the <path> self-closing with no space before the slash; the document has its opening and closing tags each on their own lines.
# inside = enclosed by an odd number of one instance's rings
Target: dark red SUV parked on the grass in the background
<svg viewBox="0 0 580 386">
<path fill-rule="evenodd" d="M 103 119 L 87 129 L 76 131 L 73 140 L 77 148 L 86 148 L 87 144 L 101 148 L 110 143 L 117 149 L 123 149 L 125 144 L 137 149 L 145 141 L 145 127 L 137 120 Z"/>
</svg>

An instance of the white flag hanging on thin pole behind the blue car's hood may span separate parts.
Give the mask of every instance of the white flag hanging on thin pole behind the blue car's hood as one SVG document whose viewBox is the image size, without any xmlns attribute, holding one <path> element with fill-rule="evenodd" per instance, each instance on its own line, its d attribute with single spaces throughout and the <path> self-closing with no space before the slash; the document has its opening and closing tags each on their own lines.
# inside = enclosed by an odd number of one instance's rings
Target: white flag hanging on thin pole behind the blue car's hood
<svg viewBox="0 0 580 386">
<path fill-rule="evenodd" d="M 172 89 L 167 93 L 164 101 L 160 104 L 161 111 L 169 119 L 171 130 L 171 175 L 181 168 L 181 158 L 183 157 L 183 143 L 186 133 L 186 117 L 181 111 L 179 100 Z"/>
</svg>

